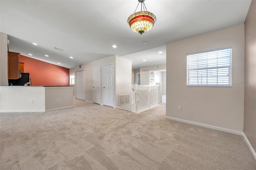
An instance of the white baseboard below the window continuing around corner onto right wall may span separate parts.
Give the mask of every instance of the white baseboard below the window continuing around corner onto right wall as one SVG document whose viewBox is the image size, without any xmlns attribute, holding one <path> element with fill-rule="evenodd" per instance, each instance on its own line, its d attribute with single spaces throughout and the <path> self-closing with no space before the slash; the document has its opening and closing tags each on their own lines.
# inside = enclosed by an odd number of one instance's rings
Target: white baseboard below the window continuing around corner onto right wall
<svg viewBox="0 0 256 170">
<path fill-rule="evenodd" d="M 222 128 L 222 127 L 216 127 L 216 126 L 207 125 L 207 124 L 203 124 L 203 123 L 197 123 L 197 122 L 192 122 L 192 121 L 186 121 L 186 120 L 184 120 L 184 119 L 178 119 L 178 118 L 175 118 L 175 117 L 166 116 L 165 118 L 166 118 L 166 119 L 173 120 L 173 121 L 178 121 L 178 122 L 182 122 L 182 123 L 187 123 L 187 124 L 191 124 L 191 125 L 200 126 L 200 127 L 206 127 L 206 128 L 211 128 L 211 129 L 215 129 L 215 130 L 220 130 L 220 131 L 223 131 L 223 132 L 228 132 L 228 133 L 233 133 L 233 134 L 239 134 L 239 135 L 241 135 L 241 136 L 244 137 L 244 140 L 245 140 L 246 144 L 248 145 L 250 151 L 252 152 L 252 155 L 254 156 L 254 159 L 256 160 L 256 152 L 255 152 L 255 150 L 252 148 L 252 145 L 250 144 L 250 142 L 249 142 L 248 138 L 246 137 L 246 135 L 244 134 L 244 132 L 240 132 L 240 131 L 237 131 L 237 130 L 231 130 L 231 129 L 227 129 L 227 128 Z"/>
</svg>

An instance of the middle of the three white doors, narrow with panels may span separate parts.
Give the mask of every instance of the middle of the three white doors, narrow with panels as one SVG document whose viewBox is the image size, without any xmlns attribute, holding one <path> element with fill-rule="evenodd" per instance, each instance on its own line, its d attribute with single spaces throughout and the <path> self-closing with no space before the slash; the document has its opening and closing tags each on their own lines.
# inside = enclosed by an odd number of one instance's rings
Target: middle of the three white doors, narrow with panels
<svg viewBox="0 0 256 170">
<path fill-rule="evenodd" d="M 100 104 L 100 66 L 92 68 L 92 93 L 93 93 L 93 103 Z"/>
</svg>

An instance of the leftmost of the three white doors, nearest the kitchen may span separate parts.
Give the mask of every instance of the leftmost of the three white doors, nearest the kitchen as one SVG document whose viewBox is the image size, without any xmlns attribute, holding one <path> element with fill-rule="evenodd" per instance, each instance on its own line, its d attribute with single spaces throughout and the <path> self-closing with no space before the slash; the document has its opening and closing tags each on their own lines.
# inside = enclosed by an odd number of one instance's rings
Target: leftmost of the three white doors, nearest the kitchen
<svg viewBox="0 0 256 170">
<path fill-rule="evenodd" d="M 76 71 L 76 99 L 85 101 L 85 70 Z"/>
</svg>

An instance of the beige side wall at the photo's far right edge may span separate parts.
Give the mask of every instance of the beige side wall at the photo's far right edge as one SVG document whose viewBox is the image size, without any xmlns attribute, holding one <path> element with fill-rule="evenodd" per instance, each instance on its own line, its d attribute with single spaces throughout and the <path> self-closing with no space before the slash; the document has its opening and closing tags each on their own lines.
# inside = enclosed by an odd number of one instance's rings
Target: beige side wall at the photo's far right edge
<svg viewBox="0 0 256 170">
<path fill-rule="evenodd" d="M 256 151 L 256 1 L 252 0 L 245 28 L 244 134 Z"/>
</svg>

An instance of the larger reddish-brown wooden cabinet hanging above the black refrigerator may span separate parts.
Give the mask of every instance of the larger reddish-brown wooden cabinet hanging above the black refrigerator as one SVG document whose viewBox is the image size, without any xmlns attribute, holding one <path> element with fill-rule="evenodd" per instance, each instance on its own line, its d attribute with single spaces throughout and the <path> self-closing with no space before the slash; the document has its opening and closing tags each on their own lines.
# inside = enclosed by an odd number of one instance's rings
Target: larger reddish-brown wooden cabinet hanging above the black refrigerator
<svg viewBox="0 0 256 170">
<path fill-rule="evenodd" d="M 8 79 L 20 78 L 20 53 L 8 51 Z"/>
</svg>

